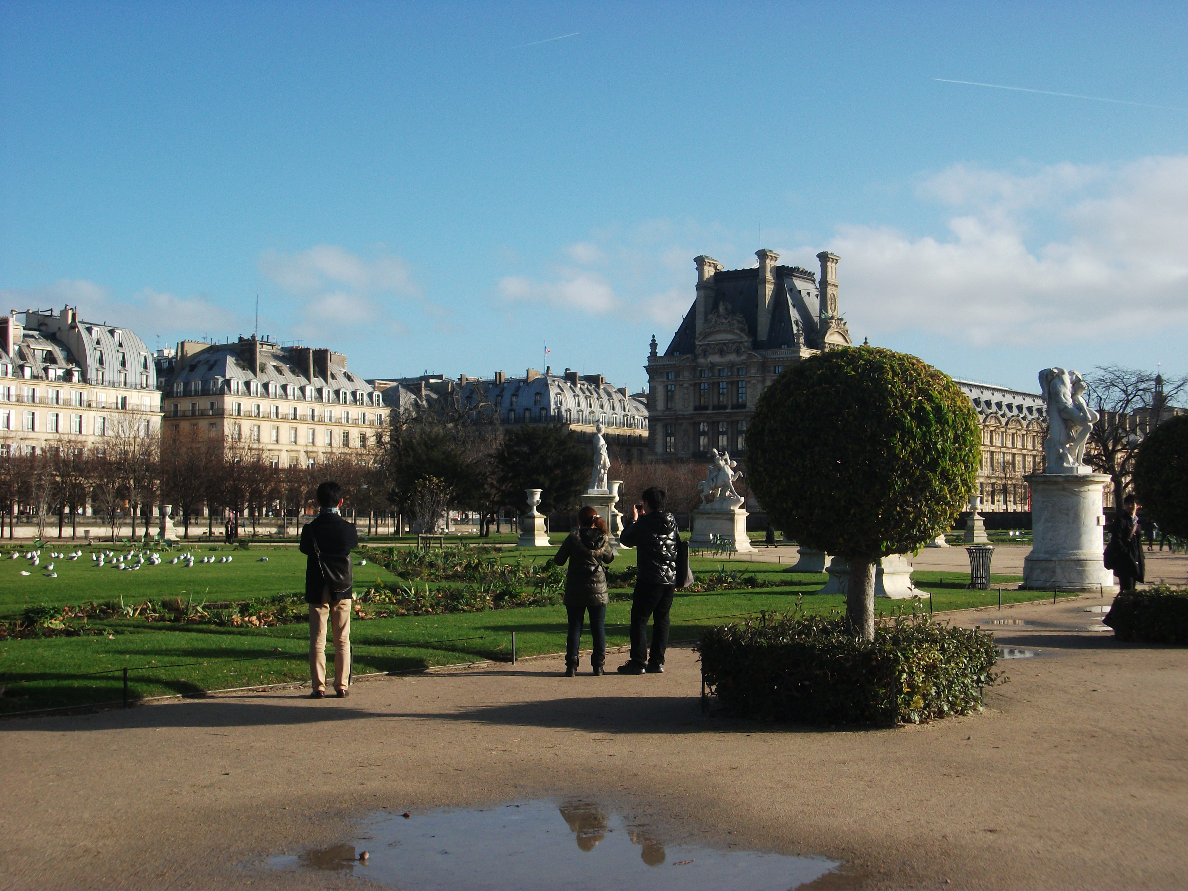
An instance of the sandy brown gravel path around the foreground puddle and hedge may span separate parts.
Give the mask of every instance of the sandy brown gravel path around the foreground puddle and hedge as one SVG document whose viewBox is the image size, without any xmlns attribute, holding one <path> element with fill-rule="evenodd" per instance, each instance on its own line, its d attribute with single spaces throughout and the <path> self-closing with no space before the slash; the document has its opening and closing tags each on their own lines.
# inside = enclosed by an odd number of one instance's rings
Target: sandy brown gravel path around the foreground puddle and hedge
<svg viewBox="0 0 1188 891">
<path fill-rule="evenodd" d="M 1000 664 L 986 713 L 923 727 L 704 718 L 688 649 L 661 676 L 546 658 L 6 720 L 0 885 L 358 886 L 260 864 L 380 808 L 581 796 L 674 843 L 846 864 L 817 887 L 1184 887 L 1188 649 L 1089 631 L 1107 602 L 950 614 L 1038 655 Z"/>
</svg>

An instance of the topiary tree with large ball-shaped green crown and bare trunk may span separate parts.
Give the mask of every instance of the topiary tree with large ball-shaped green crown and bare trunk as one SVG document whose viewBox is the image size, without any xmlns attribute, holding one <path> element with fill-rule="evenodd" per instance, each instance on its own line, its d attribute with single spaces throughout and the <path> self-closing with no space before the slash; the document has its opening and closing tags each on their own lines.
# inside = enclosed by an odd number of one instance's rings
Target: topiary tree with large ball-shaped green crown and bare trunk
<svg viewBox="0 0 1188 891">
<path fill-rule="evenodd" d="M 874 570 L 947 530 L 981 449 L 943 372 L 876 347 L 832 349 L 769 386 L 747 429 L 751 487 L 775 526 L 849 563 L 846 618 L 874 638 Z"/>
</svg>

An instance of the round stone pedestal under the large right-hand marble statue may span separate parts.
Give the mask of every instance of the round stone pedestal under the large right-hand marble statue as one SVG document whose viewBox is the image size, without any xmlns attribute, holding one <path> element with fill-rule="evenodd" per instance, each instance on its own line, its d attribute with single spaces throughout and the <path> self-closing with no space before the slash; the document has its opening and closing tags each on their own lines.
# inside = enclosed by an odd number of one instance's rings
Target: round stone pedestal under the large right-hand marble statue
<svg viewBox="0 0 1188 891">
<path fill-rule="evenodd" d="M 1024 589 L 1118 590 L 1102 557 L 1101 473 L 1037 473 L 1031 487 L 1031 552 L 1023 561 Z"/>
</svg>

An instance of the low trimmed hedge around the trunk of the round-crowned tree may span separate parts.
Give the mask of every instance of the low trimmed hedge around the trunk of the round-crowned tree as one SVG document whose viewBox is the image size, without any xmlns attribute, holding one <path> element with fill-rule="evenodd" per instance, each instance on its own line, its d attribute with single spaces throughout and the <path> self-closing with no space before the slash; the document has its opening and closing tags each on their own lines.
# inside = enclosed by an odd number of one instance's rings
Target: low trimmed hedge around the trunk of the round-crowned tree
<svg viewBox="0 0 1188 891">
<path fill-rule="evenodd" d="M 981 710 L 997 650 L 984 632 L 923 614 L 855 638 L 843 618 L 785 615 L 723 625 L 697 644 L 707 685 L 729 714 L 798 723 L 921 723 Z"/>
</svg>

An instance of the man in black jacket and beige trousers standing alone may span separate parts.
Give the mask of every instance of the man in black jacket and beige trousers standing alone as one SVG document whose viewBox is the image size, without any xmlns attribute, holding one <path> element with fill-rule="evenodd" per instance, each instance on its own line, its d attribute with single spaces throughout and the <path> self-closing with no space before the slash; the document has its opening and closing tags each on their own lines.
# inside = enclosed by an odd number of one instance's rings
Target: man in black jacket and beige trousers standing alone
<svg viewBox="0 0 1188 891">
<path fill-rule="evenodd" d="M 321 513 L 301 531 L 305 561 L 305 602 L 309 604 L 309 674 L 314 691 L 326 695 L 326 620 L 334 628 L 334 690 L 346 696 L 350 685 L 350 606 L 354 587 L 350 550 L 359 544 L 354 523 L 339 513 L 342 486 L 323 482 L 317 487 Z"/>
</svg>

